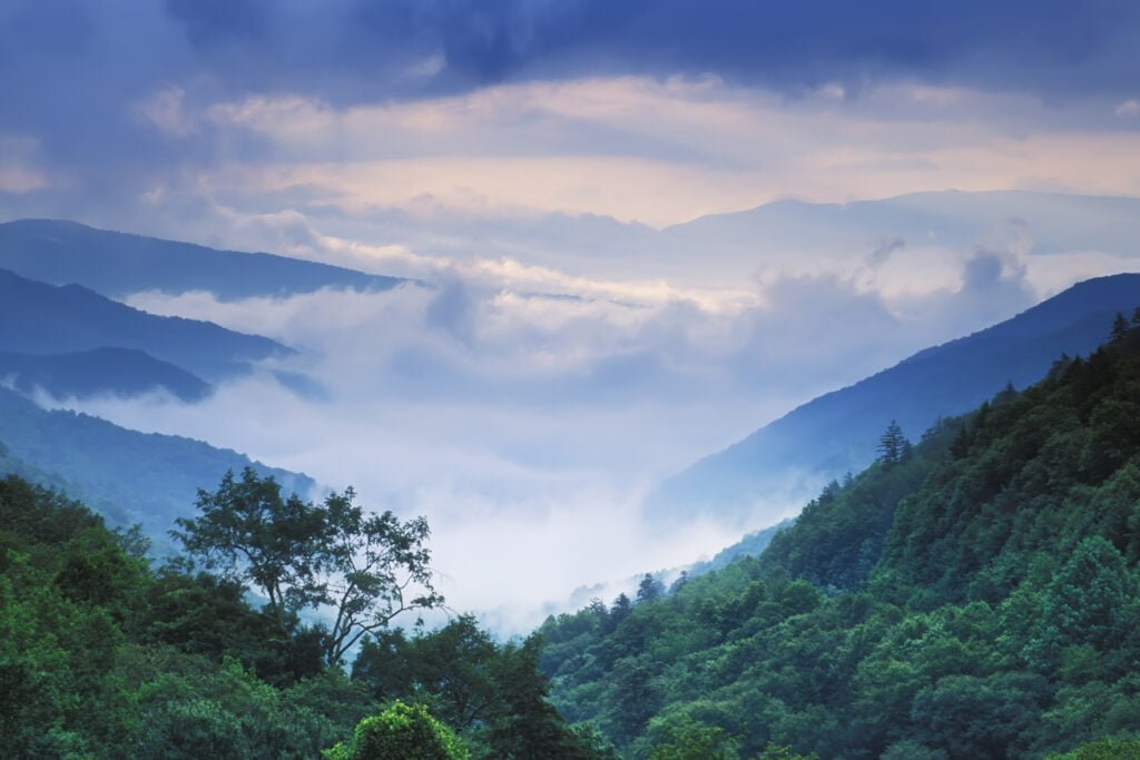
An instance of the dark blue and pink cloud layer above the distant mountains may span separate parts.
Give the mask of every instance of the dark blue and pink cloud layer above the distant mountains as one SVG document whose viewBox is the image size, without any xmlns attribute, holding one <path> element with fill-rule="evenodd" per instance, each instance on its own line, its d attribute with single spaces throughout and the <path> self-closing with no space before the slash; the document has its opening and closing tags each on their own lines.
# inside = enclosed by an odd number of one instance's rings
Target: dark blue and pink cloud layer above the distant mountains
<svg viewBox="0 0 1140 760">
<path fill-rule="evenodd" d="M 1134 95 L 1138 19 L 1020 0 L 17 0 L 0 133 L 74 182 L 6 170 L 0 213 L 122 226 L 179 189 L 239 191 L 221 180 L 243 171 L 262 211 L 287 187 L 357 212 L 431 197 L 653 223 L 787 195 L 1134 194 L 1134 166 L 1102 158 L 1134 136 L 1098 134 Z"/>
</svg>

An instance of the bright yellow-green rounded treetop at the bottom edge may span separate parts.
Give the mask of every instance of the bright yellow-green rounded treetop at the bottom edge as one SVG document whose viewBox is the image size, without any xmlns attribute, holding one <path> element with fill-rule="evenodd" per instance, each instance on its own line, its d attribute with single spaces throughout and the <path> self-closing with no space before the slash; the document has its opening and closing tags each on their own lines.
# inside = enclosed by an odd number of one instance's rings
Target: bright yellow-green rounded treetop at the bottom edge
<svg viewBox="0 0 1140 760">
<path fill-rule="evenodd" d="M 351 742 L 325 751 L 325 760 L 466 760 L 466 747 L 422 704 L 393 702 L 365 718 Z"/>
</svg>

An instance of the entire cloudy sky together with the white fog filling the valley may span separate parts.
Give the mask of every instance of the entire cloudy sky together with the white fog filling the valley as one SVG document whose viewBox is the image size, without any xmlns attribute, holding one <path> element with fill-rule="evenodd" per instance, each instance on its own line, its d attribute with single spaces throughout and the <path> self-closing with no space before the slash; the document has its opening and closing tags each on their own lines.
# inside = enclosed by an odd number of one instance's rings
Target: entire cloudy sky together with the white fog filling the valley
<svg viewBox="0 0 1140 760">
<path fill-rule="evenodd" d="M 804 496 L 662 534 L 657 480 L 1135 270 L 1134 209 L 1086 196 L 1140 197 L 1138 46 L 1130 0 L 10 0 L 0 220 L 418 278 L 135 294 L 325 393 L 85 408 L 427 514 L 448 593 L 519 630 Z"/>
</svg>

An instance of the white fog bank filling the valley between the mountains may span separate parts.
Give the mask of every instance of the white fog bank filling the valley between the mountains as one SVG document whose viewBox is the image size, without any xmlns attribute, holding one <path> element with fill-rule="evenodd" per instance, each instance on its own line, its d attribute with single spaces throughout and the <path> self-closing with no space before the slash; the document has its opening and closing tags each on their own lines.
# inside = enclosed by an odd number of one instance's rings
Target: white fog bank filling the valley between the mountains
<svg viewBox="0 0 1140 760">
<path fill-rule="evenodd" d="M 511 268 L 478 267 L 383 293 L 226 303 L 144 293 L 131 303 L 301 352 L 202 404 L 72 406 L 425 514 L 451 603 L 519 631 L 584 582 L 710 555 L 795 512 L 803 489 L 789 487 L 754 523 L 671 531 L 644 520 L 641 498 L 800 401 L 1019 310 L 1031 297 L 1020 261 L 978 251 L 952 262 L 951 279 L 905 297 L 837 275 L 769 278 L 749 302 L 652 292 L 635 301 L 636 291 L 616 301 L 595 297 L 605 283 L 580 280 L 555 297 L 521 291 Z M 300 398 L 274 370 L 304 373 L 326 394 Z"/>
</svg>

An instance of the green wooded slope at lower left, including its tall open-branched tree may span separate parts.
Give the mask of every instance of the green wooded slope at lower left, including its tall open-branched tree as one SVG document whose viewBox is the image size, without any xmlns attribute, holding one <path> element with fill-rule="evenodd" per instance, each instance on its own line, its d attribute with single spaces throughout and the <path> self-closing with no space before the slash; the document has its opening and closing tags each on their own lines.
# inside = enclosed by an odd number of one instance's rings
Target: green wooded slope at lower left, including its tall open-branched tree
<svg viewBox="0 0 1140 760">
<path fill-rule="evenodd" d="M 537 639 L 498 644 L 469 616 L 434 632 L 381 626 L 345 675 L 357 623 L 440 600 L 401 600 L 390 585 L 424 570 L 426 526 L 345 497 L 310 505 L 252 472 L 228 477 L 182 522 L 197 564 L 155 567 L 138 531 L 0 481 L 0 757 L 606 757 L 546 700 Z M 229 562 L 246 550 L 259 562 Z M 266 583 L 277 599 L 251 604 Z M 348 600 L 340 628 L 304 622 L 302 607 L 333 595 Z"/>
</svg>

